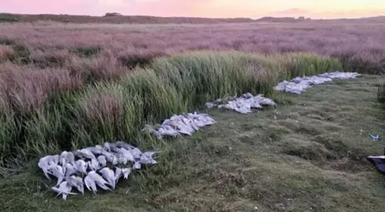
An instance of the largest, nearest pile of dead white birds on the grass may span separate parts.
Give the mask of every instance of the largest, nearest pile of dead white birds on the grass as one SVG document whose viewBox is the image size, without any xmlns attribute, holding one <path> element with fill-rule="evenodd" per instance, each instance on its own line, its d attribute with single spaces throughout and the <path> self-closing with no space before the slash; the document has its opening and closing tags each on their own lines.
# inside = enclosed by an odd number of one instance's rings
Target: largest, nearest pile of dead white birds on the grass
<svg viewBox="0 0 385 212">
<path fill-rule="evenodd" d="M 118 141 L 104 143 L 103 147 L 48 155 L 39 160 L 38 167 L 49 180 L 50 176 L 57 178 L 52 190 L 65 200 L 68 195 L 76 195 L 71 192 L 73 188 L 84 195 L 84 185 L 94 194 L 97 186 L 102 190 L 114 190 L 119 178 L 127 179 L 133 170 L 141 169 L 142 165 L 156 164 L 153 159 L 155 153 L 142 153 L 139 148 Z"/>
</svg>

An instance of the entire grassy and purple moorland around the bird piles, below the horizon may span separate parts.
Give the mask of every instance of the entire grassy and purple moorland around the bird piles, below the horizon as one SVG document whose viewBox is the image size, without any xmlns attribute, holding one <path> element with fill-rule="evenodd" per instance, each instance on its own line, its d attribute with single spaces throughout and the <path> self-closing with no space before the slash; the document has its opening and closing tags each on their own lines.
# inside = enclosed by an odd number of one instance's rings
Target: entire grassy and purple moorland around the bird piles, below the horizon
<svg viewBox="0 0 385 212">
<path fill-rule="evenodd" d="M 384 134 L 374 86 L 381 77 L 301 96 L 273 87 L 342 69 L 385 73 L 385 25 L 316 23 L 0 24 L 0 205 L 69 211 L 87 199 L 83 211 L 122 211 L 128 198 L 138 211 L 379 211 L 384 182 L 363 157 L 383 149 L 365 140 L 369 130 Z M 253 115 L 214 111 L 218 125 L 191 139 L 139 133 L 243 92 L 280 106 Z M 111 195 L 57 203 L 46 194 L 38 157 L 117 139 L 162 149 L 160 164 Z"/>
</svg>

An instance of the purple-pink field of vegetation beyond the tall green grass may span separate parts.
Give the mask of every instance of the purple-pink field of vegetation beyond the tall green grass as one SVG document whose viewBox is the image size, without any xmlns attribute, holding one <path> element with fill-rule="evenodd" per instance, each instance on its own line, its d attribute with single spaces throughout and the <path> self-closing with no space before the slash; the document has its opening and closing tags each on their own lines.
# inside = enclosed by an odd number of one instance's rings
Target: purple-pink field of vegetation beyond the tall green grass
<svg viewBox="0 0 385 212">
<path fill-rule="evenodd" d="M 314 52 L 341 59 L 346 71 L 383 73 L 384 24 L 303 22 L 240 24 L 0 24 L 0 59 L 24 64 L 62 65 L 78 55 L 107 52 L 131 66 L 155 56 L 186 50 Z M 75 62 L 71 62 L 75 63 Z M 111 63 L 111 62 L 110 62 Z"/>
</svg>

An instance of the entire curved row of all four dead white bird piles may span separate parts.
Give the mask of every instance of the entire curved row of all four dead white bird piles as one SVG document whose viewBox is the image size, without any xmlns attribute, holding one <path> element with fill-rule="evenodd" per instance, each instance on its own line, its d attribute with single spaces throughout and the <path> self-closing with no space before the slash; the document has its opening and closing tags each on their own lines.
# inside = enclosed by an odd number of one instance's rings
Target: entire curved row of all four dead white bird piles
<svg viewBox="0 0 385 212">
<path fill-rule="evenodd" d="M 331 81 L 333 78 L 356 78 L 358 73 L 333 72 L 318 76 L 294 78 L 290 82 L 279 83 L 275 90 L 301 94 L 311 85 L 318 85 Z M 226 108 L 237 113 L 248 114 L 263 106 L 275 106 L 272 99 L 253 96 L 246 93 L 240 97 L 216 99 L 205 104 L 207 108 Z M 192 135 L 200 128 L 214 125 L 216 121 L 208 114 L 188 113 L 173 115 L 157 126 L 146 125 L 142 132 L 153 134 L 157 139 Z M 120 178 L 127 179 L 133 171 L 138 171 L 143 165 L 157 164 L 153 158 L 155 151 L 142 152 L 139 148 L 123 141 L 104 143 L 104 146 L 87 147 L 73 152 L 62 152 L 60 155 L 42 157 L 38 167 L 46 178 L 57 178 L 52 190 L 66 199 L 68 195 L 76 195 L 75 190 L 84 195 L 84 188 L 97 193 L 97 188 L 114 190 Z"/>
</svg>

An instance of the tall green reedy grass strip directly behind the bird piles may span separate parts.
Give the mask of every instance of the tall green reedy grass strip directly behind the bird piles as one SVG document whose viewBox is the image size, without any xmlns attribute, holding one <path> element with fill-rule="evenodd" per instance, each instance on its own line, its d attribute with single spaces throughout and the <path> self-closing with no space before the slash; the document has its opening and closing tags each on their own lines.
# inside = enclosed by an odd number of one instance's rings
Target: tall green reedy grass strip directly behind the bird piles
<svg viewBox="0 0 385 212">
<path fill-rule="evenodd" d="M 0 113 L 5 126 L 0 129 L 0 155 L 6 155 L 0 163 L 10 166 L 8 160 L 15 158 L 34 160 L 106 141 L 124 140 L 150 148 L 141 143 L 144 137 L 139 130 L 145 124 L 228 95 L 252 92 L 273 97 L 273 87 L 282 78 L 341 67 L 337 59 L 303 53 L 187 52 L 154 59 L 148 67 L 137 67 L 112 83 L 56 93 L 40 111 L 21 105 L 28 113 Z M 23 103 L 22 97 L 18 104 Z M 34 98 L 29 100 L 35 104 Z M 36 104 L 41 102 L 37 100 Z"/>
</svg>

